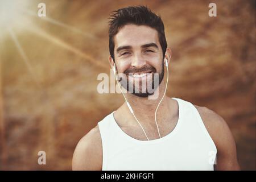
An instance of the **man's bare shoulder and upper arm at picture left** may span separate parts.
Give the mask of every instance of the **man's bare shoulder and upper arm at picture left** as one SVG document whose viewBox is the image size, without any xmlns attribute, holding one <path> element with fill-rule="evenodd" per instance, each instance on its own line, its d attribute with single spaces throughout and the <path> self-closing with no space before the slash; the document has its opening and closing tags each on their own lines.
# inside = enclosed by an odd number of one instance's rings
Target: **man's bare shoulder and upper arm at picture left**
<svg viewBox="0 0 256 182">
<path fill-rule="evenodd" d="M 102 169 L 102 144 L 98 126 L 90 130 L 77 143 L 72 160 L 72 170 Z"/>
</svg>

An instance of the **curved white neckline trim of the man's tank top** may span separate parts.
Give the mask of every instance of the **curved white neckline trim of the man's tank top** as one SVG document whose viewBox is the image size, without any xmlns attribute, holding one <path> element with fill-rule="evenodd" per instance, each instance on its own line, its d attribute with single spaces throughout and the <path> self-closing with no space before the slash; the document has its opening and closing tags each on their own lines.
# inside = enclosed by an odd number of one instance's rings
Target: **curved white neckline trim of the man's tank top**
<svg viewBox="0 0 256 182">
<path fill-rule="evenodd" d="M 123 131 L 121 129 L 121 127 L 117 124 L 117 121 L 115 121 L 115 118 L 114 118 L 114 112 L 113 111 L 111 113 L 111 117 L 112 119 L 114 120 L 114 127 L 117 128 L 117 130 L 119 131 L 119 133 L 121 135 L 123 135 L 123 137 L 125 137 L 127 140 L 130 140 L 131 142 L 137 142 L 137 143 L 142 143 L 142 144 L 150 144 L 150 143 L 159 143 L 159 142 L 163 142 L 165 140 L 167 140 L 168 138 L 171 138 L 172 135 L 175 135 L 177 133 L 177 130 L 179 129 L 180 125 L 181 125 L 181 114 L 182 114 L 182 106 L 181 106 L 181 101 L 179 98 L 175 98 L 175 97 L 172 97 L 172 99 L 176 100 L 177 101 L 177 105 L 178 105 L 178 109 L 179 109 L 179 117 L 177 119 L 177 123 L 174 127 L 173 130 L 170 131 L 170 133 L 168 133 L 167 135 L 165 135 L 164 137 L 161 137 L 161 138 L 157 138 L 157 139 L 152 139 L 152 140 L 139 140 L 139 139 L 136 139 L 136 138 L 133 138 L 131 137 L 130 135 L 128 135 L 127 133 L 125 133 L 125 131 Z"/>
</svg>

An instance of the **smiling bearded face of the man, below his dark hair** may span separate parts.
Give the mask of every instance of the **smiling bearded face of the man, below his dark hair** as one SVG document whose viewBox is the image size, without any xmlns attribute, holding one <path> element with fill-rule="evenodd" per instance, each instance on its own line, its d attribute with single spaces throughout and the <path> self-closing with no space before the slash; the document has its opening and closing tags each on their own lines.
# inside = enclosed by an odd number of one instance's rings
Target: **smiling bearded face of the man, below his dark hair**
<svg viewBox="0 0 256 182">
<path fill-rule="evenodd" d="M 156 89 L 163 80 L 163 52 L 158 39 L 158 32 L 148 26 L 127 24 L 114 36 L 114 57 L 118 73 L 125 73 L 127 90 L 139 97 L 150 94 L 147 83 Z M 154 76 L 159 74 L 159 84 L 154 85 Z M 133 90 L 129 90 L 129 84 Z M 142 93 L 142 90 L 146 93 Z M 139 93 L 135 93 L 139 90 Z"/>
</svg>

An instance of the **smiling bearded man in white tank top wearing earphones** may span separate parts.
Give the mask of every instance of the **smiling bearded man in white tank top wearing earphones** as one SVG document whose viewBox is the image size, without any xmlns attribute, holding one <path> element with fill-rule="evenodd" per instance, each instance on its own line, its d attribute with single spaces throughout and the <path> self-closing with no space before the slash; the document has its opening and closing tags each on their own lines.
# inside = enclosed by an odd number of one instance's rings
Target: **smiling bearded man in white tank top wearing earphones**
<svg viewBox="0 0 256 182">
<path fill-rule="evenodd" d="M 236 144 L 224 119 L 206 107 L 165 95 L 164 65 L 170 63 L 171 49 L 159 16 L 144 6 L 114 11 L 109 51 L 112 68 L 127 75 L 129 84 L 142 80 L 153 84 L 149 76 L 158 74 L 154 89 L 159 97 L 150 100 L 149 92 L 134 93 L 142 88 L 133 85 L 129 90 L 133 93 L 124 94 L 129 103 L 79 141 L 73 170 L 240 169 Z"/>
</svg>

